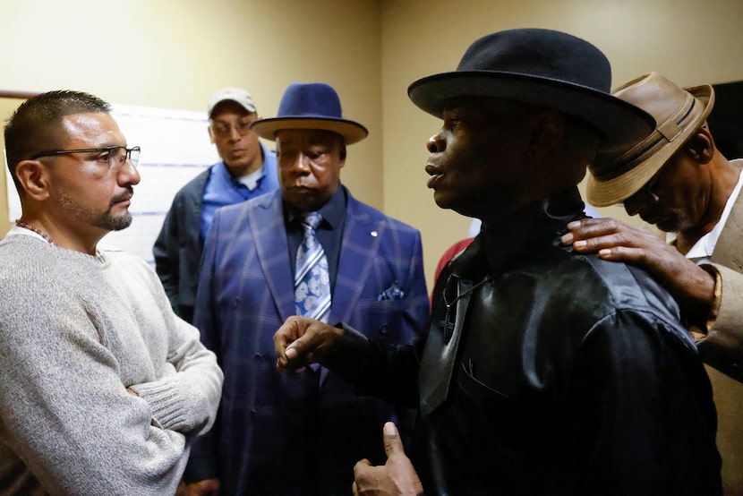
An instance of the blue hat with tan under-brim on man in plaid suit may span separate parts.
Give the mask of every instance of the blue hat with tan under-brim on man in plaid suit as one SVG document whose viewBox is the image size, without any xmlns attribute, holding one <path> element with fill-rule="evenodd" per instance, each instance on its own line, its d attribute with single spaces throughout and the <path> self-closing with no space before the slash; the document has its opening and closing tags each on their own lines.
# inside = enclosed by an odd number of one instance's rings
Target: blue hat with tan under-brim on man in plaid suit
<svg viewBox="0 0 743 496">
<path fill-rule="evenodd" d="M 290 84 L 278 104 L 278 115 L 253 122 L 251 129 L 271 141 L 282 129 L 319 129 L 340 134 L 347 145 L 369 134 L 362 124 L 343 118 L 336 90 L 324 82 Z"/>
</svg>

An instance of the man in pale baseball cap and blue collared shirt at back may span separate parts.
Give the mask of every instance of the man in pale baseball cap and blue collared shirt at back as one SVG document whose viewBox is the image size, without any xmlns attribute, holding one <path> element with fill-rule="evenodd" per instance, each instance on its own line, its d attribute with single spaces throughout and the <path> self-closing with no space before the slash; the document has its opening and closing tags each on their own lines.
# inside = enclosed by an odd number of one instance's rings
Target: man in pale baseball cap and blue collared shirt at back
<svg viewBox="0 0 743 496">
<path fill-rule="evenodd" d="M 201 250 L 214 212 L 278 188 L 276 154 L 250 128 L 259 118 L 251 94 L 218 90 L 207 115 L 209 139 L 221 160 L 176 193 L 152 250 L 170 302 L 186 321 L 193 319 Z"/>
</svg>

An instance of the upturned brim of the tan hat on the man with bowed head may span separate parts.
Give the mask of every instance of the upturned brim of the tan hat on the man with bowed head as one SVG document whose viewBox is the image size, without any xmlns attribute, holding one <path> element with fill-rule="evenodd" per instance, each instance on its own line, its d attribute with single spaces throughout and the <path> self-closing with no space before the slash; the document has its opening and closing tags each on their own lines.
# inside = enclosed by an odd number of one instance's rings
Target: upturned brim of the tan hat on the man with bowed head
<svg viewBox="0 0 743 496">
<path fill-rule="evenodd" d="M 707 117 L 714 107 L 714 90 L 710 85 L 697 86 L 686 89 L 704 107 L 696 115 L 693 122 L 687 125 L 673 141 L 666 143 L 661 150 L 656 151 L 636 167 L 626 173 L 606 181 L 600 181 L 591 174 L 590 169 L 585 182 L 585 199 L 594 207 L 609 207 L 627 200 L 657 174 L 661 167 L 696 133 L 699 126 L 705 124 Z"/>
</svg>

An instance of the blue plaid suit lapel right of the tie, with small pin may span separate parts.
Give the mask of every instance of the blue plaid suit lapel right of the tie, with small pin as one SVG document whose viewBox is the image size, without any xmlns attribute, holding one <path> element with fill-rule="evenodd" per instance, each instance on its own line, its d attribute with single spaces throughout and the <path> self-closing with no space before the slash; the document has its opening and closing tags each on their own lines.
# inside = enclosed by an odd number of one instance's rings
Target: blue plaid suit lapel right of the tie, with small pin
<svg viewBox="0 0 743 496">
<path fill-rule="evenodd" d="M 350 321 L 354 307 L 363 293 L 364 282 L 370 280 L 372 265 L 380 249 L 386 225 L 373 219 L 362 204 L 348 194 L 346 225 L 338 260 L 330 322 Z"/>
</svg>

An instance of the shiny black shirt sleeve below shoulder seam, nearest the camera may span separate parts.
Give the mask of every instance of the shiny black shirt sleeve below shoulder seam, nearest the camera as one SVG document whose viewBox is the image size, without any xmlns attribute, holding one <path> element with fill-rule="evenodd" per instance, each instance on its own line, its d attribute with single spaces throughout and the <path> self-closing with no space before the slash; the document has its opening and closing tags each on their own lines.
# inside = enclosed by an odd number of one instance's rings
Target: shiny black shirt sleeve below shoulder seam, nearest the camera
<svg viewBox="0 0 743 496">
<path fill-rule="evenodd" d="M 565 451 L 575 494 L 713 493 L 712 390 L 684 332 L 625 310 L 585 337 L 560 412 L 574 440 Z"/>
</svg>

